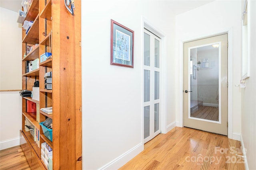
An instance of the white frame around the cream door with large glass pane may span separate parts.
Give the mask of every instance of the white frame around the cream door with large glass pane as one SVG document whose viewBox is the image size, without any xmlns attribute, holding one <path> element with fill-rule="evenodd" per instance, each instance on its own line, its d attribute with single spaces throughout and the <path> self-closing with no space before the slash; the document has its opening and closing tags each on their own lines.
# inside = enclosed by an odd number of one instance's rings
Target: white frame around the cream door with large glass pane
<svg viewBox="0 0 256 170">
<path fill-rule="evenodd" d="M 228 33 L 228 138 L 230 139 L 235 139 L 240 141 L 240 135 L 238 134 L 233 134 L 233 27 L 231 27 L 228 30 L 223 30 L 219 31 L 216 33 L 208 34 L 208 35 L 200 35 L 191 39 L 185 39 L 180 41 L 179 43 L 179 51 L 180 54 L 182 54 L 182 57 L 180 57 L 180 86 L 179 86 L 179 98 L 180 98 L 180 103 L 179 103 L 179 122 L 177 122 L 178 127 L 184 127 L 184 99 L 183 99 L 183 84 L 184 84 L 184 49 L 183 49 L 183 44 L 189 41 L 194 41 L 198 39 L 203 39 L 203 38 L 208 38 L 216 35 L 221 35 L 224 33 Z"/>
</svg>

